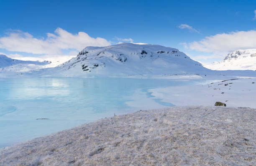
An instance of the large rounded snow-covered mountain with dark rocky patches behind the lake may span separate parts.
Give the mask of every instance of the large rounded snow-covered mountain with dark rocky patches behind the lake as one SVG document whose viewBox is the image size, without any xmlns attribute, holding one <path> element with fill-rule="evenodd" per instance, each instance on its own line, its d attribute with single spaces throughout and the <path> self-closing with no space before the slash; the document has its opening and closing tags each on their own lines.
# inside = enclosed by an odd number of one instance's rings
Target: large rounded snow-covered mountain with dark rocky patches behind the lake
<svg viewBox="0 0 256 166">
<path fill-rule="evenodd" d="M 132 43 L 86 47 L 77 57 L 58 67 L 40 70 L 43 76 L 58 77 L 128 77 L 207 71 L 210 70 L 177 49 Z"/>
</svg>

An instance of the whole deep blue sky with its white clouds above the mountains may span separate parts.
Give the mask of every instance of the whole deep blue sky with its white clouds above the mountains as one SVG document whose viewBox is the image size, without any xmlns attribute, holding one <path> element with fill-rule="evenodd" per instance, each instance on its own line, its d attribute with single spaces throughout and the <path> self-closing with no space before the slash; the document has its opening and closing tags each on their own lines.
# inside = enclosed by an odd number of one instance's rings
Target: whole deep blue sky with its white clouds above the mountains
<svg viewBox="0 0 256 166">
<path fill-rule="evenodd" d="M 255 12 L 255 0 L 0 0 L 0 52 L 60 56 L 88 45 L 143 42 L 212 62 L 256 48 Z"/>
</svg>

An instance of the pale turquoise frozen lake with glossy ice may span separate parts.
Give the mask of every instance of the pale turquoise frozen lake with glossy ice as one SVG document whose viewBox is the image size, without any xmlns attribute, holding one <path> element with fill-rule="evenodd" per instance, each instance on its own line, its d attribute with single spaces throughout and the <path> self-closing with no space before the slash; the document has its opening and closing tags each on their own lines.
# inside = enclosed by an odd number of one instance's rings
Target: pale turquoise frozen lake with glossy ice
<svg viewBox="0 0 256 166">
<path fill-rule="evenodd" d="M 153 99 L 147 90 L 199 82 L 132 78 L 0 78 L 0 148 L 114 114 L 173 106 Z"/>
</svg>

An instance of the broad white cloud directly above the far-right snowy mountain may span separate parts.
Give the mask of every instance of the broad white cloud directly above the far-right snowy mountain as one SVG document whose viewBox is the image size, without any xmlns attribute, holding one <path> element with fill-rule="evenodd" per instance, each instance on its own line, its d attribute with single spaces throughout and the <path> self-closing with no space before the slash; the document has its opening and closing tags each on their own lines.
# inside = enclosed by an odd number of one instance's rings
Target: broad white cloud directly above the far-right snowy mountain
<svg viewBox="0 0 256 166">
<path fill-rule="evenodd" d="M 191 50 L 223 55 L 239 49 L 256 48 L 256 31 L 238 31 L 205 37 L 188 46 Z"/>
</svg>

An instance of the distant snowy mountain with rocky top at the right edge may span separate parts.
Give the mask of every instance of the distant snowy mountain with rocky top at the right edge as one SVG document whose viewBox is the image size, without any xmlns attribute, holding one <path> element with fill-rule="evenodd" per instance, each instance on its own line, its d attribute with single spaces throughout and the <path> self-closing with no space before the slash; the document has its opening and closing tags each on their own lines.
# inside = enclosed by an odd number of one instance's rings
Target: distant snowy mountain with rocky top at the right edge
<svg viewBox="0 0 256 166">
<path fill-rule="evenodd" d="M 204 66 L 212 70 L 256 70 L 256 49 L 237 50 L 221 62 Z"/>
</svg>

